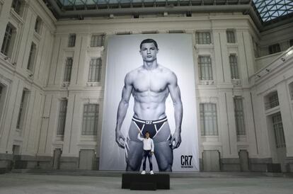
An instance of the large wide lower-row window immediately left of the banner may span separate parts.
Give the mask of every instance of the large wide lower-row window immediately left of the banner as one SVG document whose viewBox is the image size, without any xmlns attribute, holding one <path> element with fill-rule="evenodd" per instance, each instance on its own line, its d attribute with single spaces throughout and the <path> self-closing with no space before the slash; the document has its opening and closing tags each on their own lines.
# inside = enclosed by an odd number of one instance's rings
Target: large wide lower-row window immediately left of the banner
<svg viewBox="0 0 293 194">
<path fill-rule="evenodd" d="M 97 135 L 98 104 L 85 104 L 81 135 Z"/>
</svg>

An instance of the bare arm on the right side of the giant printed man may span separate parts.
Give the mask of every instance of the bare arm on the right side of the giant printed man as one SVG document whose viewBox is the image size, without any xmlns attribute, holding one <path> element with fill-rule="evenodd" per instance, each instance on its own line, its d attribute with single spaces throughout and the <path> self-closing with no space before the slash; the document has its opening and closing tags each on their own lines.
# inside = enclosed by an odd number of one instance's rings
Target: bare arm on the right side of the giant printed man
<svg viewBox="0 0 293 194">
<path fill-rule="evenodd" d="M 170 92 L 170 96 L 174 105 L 174 118 L 175 118 L 175 132 L 171 139 L 171 144 L 175 141 L 173 145 L 173 149 L 176 149 L 180 146 L 181 143 L 181 123 L 183 116 L 183 106 L 181 101 L 180 89 L 177 83 L 176 74 L 171 72 L 170 80 L 168 84 L 168 89 Z"/>
</svg>

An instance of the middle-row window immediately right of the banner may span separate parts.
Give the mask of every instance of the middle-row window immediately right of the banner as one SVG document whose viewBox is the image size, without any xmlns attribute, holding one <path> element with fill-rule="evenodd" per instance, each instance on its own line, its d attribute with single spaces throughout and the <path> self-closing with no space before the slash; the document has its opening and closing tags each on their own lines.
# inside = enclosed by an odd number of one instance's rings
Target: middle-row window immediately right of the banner
<svg viewBox="0 0 293 194">
<path fill-rule="evenodd" d="M 212 60 L 209 56 L 198 57 L 198 70 L 200 80 L 212 80 Z"/>
</svg>

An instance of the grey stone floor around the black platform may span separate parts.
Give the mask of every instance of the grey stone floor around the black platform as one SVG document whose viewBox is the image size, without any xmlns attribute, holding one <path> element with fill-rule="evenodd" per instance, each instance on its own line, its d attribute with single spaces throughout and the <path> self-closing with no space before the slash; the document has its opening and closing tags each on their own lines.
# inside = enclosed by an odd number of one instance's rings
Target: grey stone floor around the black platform
<svg viewBox="0 0 293 194">
<path fill-rule="evenodd" d="M 0 174 L 0 193 L 293 193 L 293 178 L 258 173 L 195 173 L 171 176 L 171 190 L 133 191 L 121 189 L 120 173 L 98 176 L 64 173 Z"/>
</svg>

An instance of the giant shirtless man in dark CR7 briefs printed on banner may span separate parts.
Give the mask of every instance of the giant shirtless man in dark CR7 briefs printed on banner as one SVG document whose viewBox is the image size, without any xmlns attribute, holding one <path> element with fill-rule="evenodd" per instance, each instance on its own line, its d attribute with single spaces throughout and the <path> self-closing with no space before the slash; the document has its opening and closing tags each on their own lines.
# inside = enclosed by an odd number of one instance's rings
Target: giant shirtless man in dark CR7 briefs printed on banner
<svg viewBox="0 0 293 194">
<path fill-rule="evenodd" d="M 173 149 L 181 143 L 181 122 L 183 106 L 177 76 L 170 69 L 157 63 L 158 45 L 153 39 L 140 44 L 143 65 L 128 72 L 117 110 L 116 142 L 125 148 L 126 171 L 139 171 L 142 164 L 143 144 L 137 139 L 137 130 L 144 136 L 146 131 L 154 140 L 154 155 L 159 171 L 172 171 Z M 166 98 L 173 101 L 176 129 L 173 135 L 166 118 Z M 125 137 L 120 131 L 127 113 L 130 96 L 134 97 L 134 115 Z"/>
</svg>

